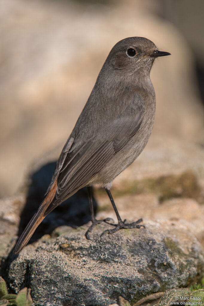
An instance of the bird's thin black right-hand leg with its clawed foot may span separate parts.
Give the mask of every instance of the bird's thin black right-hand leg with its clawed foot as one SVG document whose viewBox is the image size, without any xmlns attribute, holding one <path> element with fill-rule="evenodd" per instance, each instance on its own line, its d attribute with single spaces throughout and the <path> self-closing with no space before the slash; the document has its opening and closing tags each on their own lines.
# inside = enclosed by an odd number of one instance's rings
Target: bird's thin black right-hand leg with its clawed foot
<svg viewBox="0 0 204 306">
<path fill-rule="evenodd" d="M 102 235 L 104 235 L 105 233 L 113 234 L 113 233 L 117 232 L 120 229 L 133 229 L 133 228 L 138 228 L 139 229 L 141 226 L 145 227 L 142 224 L 138 224 L 138 223 L 142 222 L 143 219 L 139 219 L 139 220 L 137 220 L 135 222 L 132 222 L 132 223 L 125 223 L 126 219 L 124 221 L 122 221 L 122 219 L 121 219 L 121 217 L 120 217 L 120 215 L 119 215 L 119 213 L 117 211 L 117 208 L 116 208 L 116 205 L 115 205 L 115 202 L 113 200 L 113 197 L 112 197 L 112 194 L 111 194 L 110 190 L 108 188 L 106 188 L 106 187 L 105 187 L 105 190 L 106 190 L 106 192 L 107 192 L 107 194 L 109 196 L 111 204 L 113 205 L 113 209 L 114 209 L 114 211 L 116 213 L 116 216 L 117 216 L 117 219 L 118 219 L 118 224 L 109 223 L 109 224 L 115 226 L 115 228 L 112 229 L 112 230 L 105 230 L 105 231 L 103 231 L 102 234 L 100 235 L 100 237 Z"/>
</svg>

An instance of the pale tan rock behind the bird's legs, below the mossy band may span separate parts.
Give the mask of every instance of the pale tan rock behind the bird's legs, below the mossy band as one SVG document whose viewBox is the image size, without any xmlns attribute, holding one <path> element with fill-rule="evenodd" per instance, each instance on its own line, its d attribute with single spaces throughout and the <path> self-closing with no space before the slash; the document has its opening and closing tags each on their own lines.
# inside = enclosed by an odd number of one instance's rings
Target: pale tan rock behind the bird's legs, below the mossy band
<svg viewBox="0 0 204 306">
<path fill-rule="evenodd" d="M 116 222 L 117 218 L 109 200 L 104 196 L 97 202 L 97 218 L 110 217 Z M 171 232 L 175 237 L 177 236 L 177 226 L 180 226 L 186 234 L 192 232 L 204 248 L 204 206 L 194 199 L 172 198 L 159 203 L 158 198 L 149 193 L 116 197 L 115 203 L 122 219 L 134 221 L 143 218 L 145 225 L 148 222 L 170 222 L 172 224 Z"/>
</svg>

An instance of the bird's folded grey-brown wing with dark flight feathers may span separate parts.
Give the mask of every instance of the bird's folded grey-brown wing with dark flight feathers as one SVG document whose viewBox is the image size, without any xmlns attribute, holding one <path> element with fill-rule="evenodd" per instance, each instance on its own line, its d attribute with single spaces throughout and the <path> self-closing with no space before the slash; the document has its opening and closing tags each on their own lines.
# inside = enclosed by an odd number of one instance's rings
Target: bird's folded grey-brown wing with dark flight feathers
<svg viewBox="0 0 204 306">
<path fill-rule="evenodd" d="M 137 100 L 89 139 L 77 140 L 73 137 L 71 146 L 70 140 L 67 142 L 57 163 L 59 170 L 56 168 L 55 171 L 56 195 L 46 213 L 86 184 L 135 135 L 142 123 L 144 110 L 142 103 L 138 105 Z"/>
</svg>

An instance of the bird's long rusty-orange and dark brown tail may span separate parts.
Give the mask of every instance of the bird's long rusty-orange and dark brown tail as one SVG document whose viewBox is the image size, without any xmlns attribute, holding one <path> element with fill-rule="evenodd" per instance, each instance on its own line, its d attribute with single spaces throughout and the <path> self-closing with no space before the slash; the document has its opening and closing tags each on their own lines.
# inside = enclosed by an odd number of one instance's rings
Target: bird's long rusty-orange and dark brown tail
<svg viewBox="0 0 204 306">
<path fill-rule="evenodd" d="M 22 235 L 20 236 L 13 253 L 18 254 L 28 243 L 30 240 L 32 234 L 35 232 L 36 228 L 39 226 L 39 224 L 43 221 L 43 219 L 46 217 L 46 210 L 51 204 L 52 200 L 54 199 L 55 193 L 57 188 L 57 180 L 55 180 L 54 184 L 50 188 L 50 191 L 48 192 L 46 198 L 41 203 L 38 211 L 36 214 L 32 217 L 31 221 L 26 226 L 25 230 L 23 231 Z"/>
</svg>

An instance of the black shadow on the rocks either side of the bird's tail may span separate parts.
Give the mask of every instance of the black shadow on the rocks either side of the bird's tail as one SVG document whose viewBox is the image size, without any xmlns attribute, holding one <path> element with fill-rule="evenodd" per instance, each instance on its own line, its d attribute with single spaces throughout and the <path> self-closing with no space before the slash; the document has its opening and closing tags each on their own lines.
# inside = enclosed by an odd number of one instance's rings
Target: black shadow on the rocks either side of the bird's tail
<svg viewBox="0 0 204 306">
<path fill-rule="evenodd" d="M 32 174 L 26 204 L 20 216 L 18 237 L 20 237 L 28 222 L 37 211 L 40 203 L 43 201 L 55 165 L 56 162 L 50 162 Z M 95 199 L 94 207 L 96 210 Z M 67 225 L 77 227 L 86 224 L 90 220 L 91 215 L 87 188 L 82 188 L 45 217 L 35 230 L 29 243 L 38 240 L 45 234 L 50 234 L 58 226 Z"/>
</svg>

